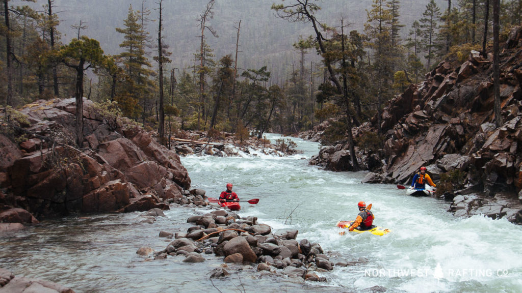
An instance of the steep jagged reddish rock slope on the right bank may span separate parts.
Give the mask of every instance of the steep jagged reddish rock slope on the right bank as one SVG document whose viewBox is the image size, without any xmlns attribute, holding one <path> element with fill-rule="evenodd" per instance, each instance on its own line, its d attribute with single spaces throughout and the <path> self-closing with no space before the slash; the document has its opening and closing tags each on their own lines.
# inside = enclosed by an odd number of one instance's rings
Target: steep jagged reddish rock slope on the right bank
<svg viewBox="0 0 522 293">
<path fill-rule="evenodd" d="M 457 170 L 467 189 L 448 191 L 444 194 L 447 198 L 471 192 L 487 197 L 502 193 L 513 199 L 506 205 L 519 205 L 518 198 L 522 201 L 521 35 L 522 28 L 516 28 L 501 45 L 502 127 L 494 124 L 492 54 L 482 56 L 472 51 L 466 62 L 456 67 L 443 61 L 422 83 L 411 84 L 386 104 L 381 117 L 384 148 L 375 153 L 359 150 L 357 154 L 362 166 L 377 173 L 370 174 L 365 181 L 409 184 L 421 166 L 428 167 L 434 179 Z M 374 117 L 370 123 L 354 129 L 354 136 L 378 132 L 377 120 Z M 331 170 L 350 170 L 346 150 L 346 143 L 327 146 L 311 163 L 323 164 Z M 475 204 L 482 207 L 482 203 Z M 456 211 L 454 207 L 452 210 Z M 520 214 L 510 213 L 513 221 L 518 221 L 516 217 L 522 219 Z"/>
</svg>

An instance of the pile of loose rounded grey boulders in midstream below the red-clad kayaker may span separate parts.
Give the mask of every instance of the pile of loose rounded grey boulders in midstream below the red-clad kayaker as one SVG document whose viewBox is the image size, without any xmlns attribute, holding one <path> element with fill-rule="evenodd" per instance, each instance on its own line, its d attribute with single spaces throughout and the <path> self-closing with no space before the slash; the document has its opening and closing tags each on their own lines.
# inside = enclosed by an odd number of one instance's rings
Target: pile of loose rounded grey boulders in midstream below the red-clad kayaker
<svg viewBox="0 0 522 293">
<path fill-rule="evenodd" d="M 257 271 L 280 272 L 287 276 L 324 282 L 317 272 L 333 270 L 334 262 L 318 243 L 307 239 L 296 240 L 298 231 L 272 231 L 257 217 L 241 218 L 226 210 L 214 210 L 187 219 L 193 223 L 185 233 L 160 231 L 160 237 L 174 237 L 167 247 L 153 253 L 150 248 L 140 248 L 137 253 L 155 259 L 181 255 L 184 262 L 204 262 L 204 255 L 215 254 L 226 263 L 257 263 Z M 351 263 L 351 262 L 350 262 Z M 349 265 L 340 260 L 339 265 Z M 228 275 L 226 270 L 215 272 L 215 277 Z"/>
</svg>

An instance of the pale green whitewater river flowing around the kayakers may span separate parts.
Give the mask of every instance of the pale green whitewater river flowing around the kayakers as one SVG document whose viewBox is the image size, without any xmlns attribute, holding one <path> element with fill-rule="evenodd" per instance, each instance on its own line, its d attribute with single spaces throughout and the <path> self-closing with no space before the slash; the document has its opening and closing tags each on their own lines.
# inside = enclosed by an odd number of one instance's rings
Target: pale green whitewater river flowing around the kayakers
<svg viewBox="0 0 522 293">
<path fill-rule="evenodd" d="M 139 223 L 139 213 L 44 221 L 1 236 L 0 267 L 76 292 L 359 292 L 373 286 L 386 292 L 522 291 L 522 226 L 483 216 L 455 218 L 443 200 L 409 197 L 395 185 L 361 184 L 364 172 L 309 166 L 319 145 L 293 140 L 302 153 L 191 155 L 182 163 L 192 188 L 205 189 L 208 197 L 218 197 L 232 182 L 242 200 L 259 199 L 242 205 L 240 216 L 257 216 L 274 229 L 297 229 L 298 241 L 317 242 L 337 258 L 367 260 L 321 273 L 326 283 L 302 284 L 236 264 L 226 267 L 230 276 L 209 279 L 213 268 L 223 266 L 213 254 L 197 264 L 183 263 L 182 257 L 144 261 L 137 256 L 140 247 L 167 246 L 171 240 L 159 238 L 159 231 L 186 231 L 188 216 L 208 212 L 188 208 L 165 211 L 153 224 Z M 335 224 L 353 219 L 359 201 L 372 203 L 374 224 L 392 232 L 339 235 Z"/>
</svg>

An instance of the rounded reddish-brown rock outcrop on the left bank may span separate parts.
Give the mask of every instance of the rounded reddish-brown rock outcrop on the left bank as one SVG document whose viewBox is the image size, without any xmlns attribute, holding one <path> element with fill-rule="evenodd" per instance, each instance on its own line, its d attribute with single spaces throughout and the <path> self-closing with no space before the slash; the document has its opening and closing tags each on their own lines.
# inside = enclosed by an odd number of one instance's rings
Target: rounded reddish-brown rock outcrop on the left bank
<svg viewBox="0 0 522 293">
<path fill-rule="evenodd" d="M 84 145 L 67 143 L 75 111 L 74 99 L 40 100 L 21 109 L 20 127 L 0 134 L 0 222 L 13 222 L 6 210 L 16 207 L 44 218 L 168 209 L 165 201 L 188 195 L 191 180 L 175 151 L 91 101 L 84 100 Z"/>
</svg>

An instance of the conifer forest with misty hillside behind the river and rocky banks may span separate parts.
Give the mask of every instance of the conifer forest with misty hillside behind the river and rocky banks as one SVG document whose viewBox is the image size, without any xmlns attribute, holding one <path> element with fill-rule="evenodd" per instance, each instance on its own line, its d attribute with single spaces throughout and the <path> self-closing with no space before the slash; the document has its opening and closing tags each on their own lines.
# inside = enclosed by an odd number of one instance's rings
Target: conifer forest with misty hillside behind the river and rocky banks
<svg viewBox="0 0 522 293">
<path fill-rule="evenodd" d="M 354 155 L 353 127 L 522 19 L 522 0 L 441 1 L 4 0 L 4 117 L 74 96 L 81 145 L 85 97 L 167 146 L 184 130 L 262 138 L 334 118 L 322 143 L 346 135 Z"/>
</svg>

